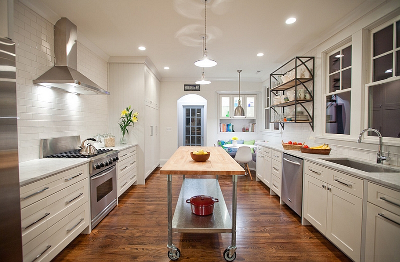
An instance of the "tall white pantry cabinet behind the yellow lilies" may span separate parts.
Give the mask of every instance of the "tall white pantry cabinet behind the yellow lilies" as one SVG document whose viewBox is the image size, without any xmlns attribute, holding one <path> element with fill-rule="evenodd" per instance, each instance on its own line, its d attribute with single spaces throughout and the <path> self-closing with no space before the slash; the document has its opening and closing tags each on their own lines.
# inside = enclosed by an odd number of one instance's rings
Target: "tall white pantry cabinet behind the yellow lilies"
<svg viewBox="0 0 400 262">
<path fill-rule="evenodd" d="M 136 183 L 159 165 L 159 77 L 147 57 L 110 57 L 108 61 L 108 129 L 119 141 L 121 110 L 131 105 L 139 113 L 129 127 L 128 143 L 137 143 Z"/>
</svg>

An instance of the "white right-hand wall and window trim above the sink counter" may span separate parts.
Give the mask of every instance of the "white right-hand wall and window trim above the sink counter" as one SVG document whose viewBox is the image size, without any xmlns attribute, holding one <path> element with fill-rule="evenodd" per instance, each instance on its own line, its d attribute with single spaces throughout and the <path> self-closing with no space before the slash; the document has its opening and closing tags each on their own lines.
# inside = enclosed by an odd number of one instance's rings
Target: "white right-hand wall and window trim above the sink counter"
<svg viewBox="0 0 400 262">
<path fill-rule="evenodd" d="M 371 3 L 371 6 L 374 6 Z M 365 12 L 362 13 L 362 11 Z M 332 153 L 342 156 L 352 156 L 360 159 L 375 161 L 377 152 L 377 137 L 364 139 L 361 144 L 357 144 L 359 132 L 366 128 L 364 121 L 364 84 L 367 83 L 369 74 L 369 34 L 368 29 L 373 28 L 374 24 L 382 20 L 393 18 L 400 14 L 400 1 L 386 1 L 371 10 L 358 10 L 361 17 L 355 22 L 348 24 L 337 33 L 310 48 L 310 51 L 301 55 L 315 57 L 315 88 L 314 88 L 314 131 L 312 132 L 308 124 L 285 125 L 281 135 L 271 132 L 263 132 L 263 139 L 279 143 L 280 140 L 305 141 L 306 144 L 318 145 L 329 143 Z M 324 57 L 323 53 L 346 39 L 352 41 L 352 88 L 351 88 L 351 124 L 350 135 L 326 135 L 324 130 L 324 93 L 325 83 L 323 74 Z M 282 61 L 282 64 L 286 61 Z M 269 85 L 269 80 L 264 82 Z M 400 165 L 400 141 L 398 139 L 383 138 L 383 152 L 387 155 L 390 151 L 390 164 Z"/>
</svg>

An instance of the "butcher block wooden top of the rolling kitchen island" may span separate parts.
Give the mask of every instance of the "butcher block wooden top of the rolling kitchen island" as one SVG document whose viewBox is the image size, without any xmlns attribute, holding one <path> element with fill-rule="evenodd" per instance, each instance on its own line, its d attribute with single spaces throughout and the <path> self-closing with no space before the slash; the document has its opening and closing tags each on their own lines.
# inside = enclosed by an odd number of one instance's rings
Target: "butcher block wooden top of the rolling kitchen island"
<svg viewBox="0 0 400 262">
<path fill-rule="evenodd" d="M 195 162 L 190 152 L 210 152 L 205 162 Z M 244 169 L 222 147 L 179 147 L 159 171 L 163 175 L 245 175 Z"/>
</svg>

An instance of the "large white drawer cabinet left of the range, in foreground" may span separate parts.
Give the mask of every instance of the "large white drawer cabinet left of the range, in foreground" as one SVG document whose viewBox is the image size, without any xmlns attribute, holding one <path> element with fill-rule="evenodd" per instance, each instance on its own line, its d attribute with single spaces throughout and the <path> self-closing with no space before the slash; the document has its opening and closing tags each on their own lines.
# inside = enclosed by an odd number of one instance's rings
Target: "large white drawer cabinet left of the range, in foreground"
<svg viewBox="0 0 400 262">
<path fill-rule="evenodd" d="M 90 232 L 88 173 L 84 164 L 20 187 L 24 262 L 51 261 Z"/>
</svg>

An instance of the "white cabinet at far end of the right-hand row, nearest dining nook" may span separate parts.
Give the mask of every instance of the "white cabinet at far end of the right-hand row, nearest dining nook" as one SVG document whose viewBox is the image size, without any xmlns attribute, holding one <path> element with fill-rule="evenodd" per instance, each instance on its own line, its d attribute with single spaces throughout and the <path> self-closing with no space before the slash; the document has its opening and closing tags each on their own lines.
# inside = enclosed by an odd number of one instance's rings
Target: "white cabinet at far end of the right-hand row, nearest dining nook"
<svg viewBox="0 0 400 262">
<path fill-rule="evenodd" d="M 256 180 L 261 180 L 267 187 L 271 187 L 271 150 L 257 146 Z"/>
</svg>

